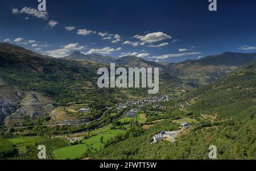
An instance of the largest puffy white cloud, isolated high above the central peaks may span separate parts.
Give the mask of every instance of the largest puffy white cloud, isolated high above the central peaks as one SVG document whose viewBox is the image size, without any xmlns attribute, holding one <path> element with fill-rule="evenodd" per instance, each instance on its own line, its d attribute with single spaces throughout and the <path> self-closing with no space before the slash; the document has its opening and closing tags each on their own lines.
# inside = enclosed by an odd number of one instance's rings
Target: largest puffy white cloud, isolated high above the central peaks
<svg viewBox="0 0 256 171">
<path fill-rule="evenodd" d="M 141 45 L 144 45 L 145 43 L 154 43 L 154 42 L 172 38 L 171 36 L 164 34 L 163 32 L 153 32 L 145 36 L 135 35 L 133 37 L 141 40 L 142 41 Z"/>
</svg>

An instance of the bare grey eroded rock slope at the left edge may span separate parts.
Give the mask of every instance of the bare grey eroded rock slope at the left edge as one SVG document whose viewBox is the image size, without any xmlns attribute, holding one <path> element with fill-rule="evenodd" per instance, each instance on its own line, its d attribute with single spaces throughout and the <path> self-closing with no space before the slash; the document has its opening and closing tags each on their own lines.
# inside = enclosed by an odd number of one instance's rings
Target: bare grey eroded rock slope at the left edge
<svg viewBox="0 0 256 171">
<path fill-rule="evenodd" d="M 52 101 L 35 91 L 22 91 L 15 87 L 0 89 L 0 122 L 6 126 L 22 122 L 24 117 L 36 119 L 53 110 Z"/>
</svg>

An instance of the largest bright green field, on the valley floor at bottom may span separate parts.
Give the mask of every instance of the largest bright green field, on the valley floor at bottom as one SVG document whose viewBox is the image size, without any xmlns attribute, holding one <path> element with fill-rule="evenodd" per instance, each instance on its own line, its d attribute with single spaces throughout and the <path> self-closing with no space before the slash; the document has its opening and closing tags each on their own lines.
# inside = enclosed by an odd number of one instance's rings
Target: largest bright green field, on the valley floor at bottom
<svg viewBox="0 0 256 171">
<path fill-rule="evenodd" d="M 90 148 L 90 151 L 95 152 L 104 148 L 104 143 L 110 138 L 121 134 L 122 130 L 109 130 L 102 134 L 90 137 L 89 139 L 82 140 L 82 144 L 72 145 L 69 147 L 55 149 L 53 155 L 55 159 L 77 159 L 84 155 L 87 148 Z M 103 136 L 104 143 L 100 142 L 100 138 Z"/>
</svg>

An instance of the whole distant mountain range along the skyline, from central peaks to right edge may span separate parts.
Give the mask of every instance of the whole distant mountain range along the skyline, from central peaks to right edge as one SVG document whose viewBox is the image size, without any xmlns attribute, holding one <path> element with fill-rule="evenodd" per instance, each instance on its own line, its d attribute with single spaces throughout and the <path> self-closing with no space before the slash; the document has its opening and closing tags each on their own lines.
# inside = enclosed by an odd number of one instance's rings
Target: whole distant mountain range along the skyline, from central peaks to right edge
<svg viewBox="0 0 256 171">
<path fill-rule="evenodd" d="M 94 61 L 104 64 L 115 64 L 131 67 L 157 67 L 162 72 L 192 82 L 197 86 L 207 85 L 218 78 L 225 76 L 234 69 L 248 62 L 256 60 L 256 53 L 225 52 L 220 55 L 207 56 L 199 60 L 185 60 L 178 63 L 152 62 L 136 56 L 124 56 L 118 59 L 92 54 L 84 55 L 81 52 L 73 52 L 64 57 L 68 60 Z"/>
</svg>

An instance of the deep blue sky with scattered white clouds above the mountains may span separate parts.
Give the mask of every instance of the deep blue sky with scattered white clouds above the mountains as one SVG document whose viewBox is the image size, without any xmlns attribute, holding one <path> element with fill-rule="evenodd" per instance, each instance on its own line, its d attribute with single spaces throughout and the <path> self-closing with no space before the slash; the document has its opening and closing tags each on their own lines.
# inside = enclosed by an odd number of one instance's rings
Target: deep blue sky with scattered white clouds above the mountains
<svg viewBox="0 0 256 171">
<path fill-rule="evenodd" d="M 73 51 L 177 62 L 256 52 L 256 1 L 1 0 L 0 41 L 53 57 Z"/>
</svg>

